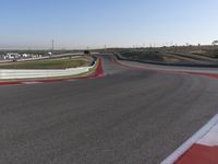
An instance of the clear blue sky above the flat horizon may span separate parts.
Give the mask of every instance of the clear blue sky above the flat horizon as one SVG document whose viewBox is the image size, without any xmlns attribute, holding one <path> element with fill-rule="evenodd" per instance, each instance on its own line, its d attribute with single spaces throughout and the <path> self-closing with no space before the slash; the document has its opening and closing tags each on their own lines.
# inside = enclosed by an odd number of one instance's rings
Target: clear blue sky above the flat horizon
<svg viewBox="0 0 218 164">
<path fill-rule="evenodd" d="M 0 48 L 210 44 L 217 0 L 1 0 Z"/>
</svg>

